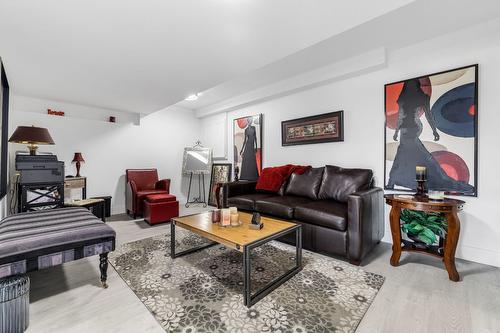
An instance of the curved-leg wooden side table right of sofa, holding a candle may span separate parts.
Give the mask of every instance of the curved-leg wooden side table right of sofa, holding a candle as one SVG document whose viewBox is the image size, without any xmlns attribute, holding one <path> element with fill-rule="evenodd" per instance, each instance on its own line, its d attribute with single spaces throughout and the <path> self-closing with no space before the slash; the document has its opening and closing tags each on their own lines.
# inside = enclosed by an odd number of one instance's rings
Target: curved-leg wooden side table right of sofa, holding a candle
<svg viewBox="0 0 500 333">
<path fill-rule="evenodd" d="M 455 267 L 455 251 L 457 249 L 458 237 L 460 235 L 460 219 L 458 212 L 462 210 L 464 201 L 456 199 L 444 199 L 440 201 L 428 198 L 415 197 L 412 195 L 386 194 L 385 201 L 391 206 L 390 222 L 392 233 L 392 256 L 391 265 L 398 266 L 401 251 L 419 252 L 442 258 L 448 276 L 452 281 L 459 281 L 460 277 Z M 444 253 L 431 252 L 406 246 L 401 239 L 401 210 L 410 209 L 423 212 L 442 213 L 448 222 L 448 230 L 444 239 Z"/>
</svg>

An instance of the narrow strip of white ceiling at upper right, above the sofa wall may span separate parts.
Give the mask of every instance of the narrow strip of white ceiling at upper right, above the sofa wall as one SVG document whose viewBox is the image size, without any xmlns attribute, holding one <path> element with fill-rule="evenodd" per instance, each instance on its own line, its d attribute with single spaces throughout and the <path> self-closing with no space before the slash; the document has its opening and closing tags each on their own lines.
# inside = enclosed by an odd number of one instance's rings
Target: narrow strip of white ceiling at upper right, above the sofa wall
<svg viewBox="0 0 500 333">
<path fill-rule="evenodd" d="M 417 0 L 208 89 L 197 101 L 177 105 L 196 110 L 199 117 L 231 110 L 248 102 L 245 94 L 259 102 L 259 91 L 272 91 L 272 84 L 300 78 L 302 73 L 327 70 L 328 65 L 377 48 L 402 48 L 499 17 L 499 0 Z M 308 83 L 304 81 L 305 88 Z M 267 92 L 260 95 L 269 98 Z"/>
</svg>

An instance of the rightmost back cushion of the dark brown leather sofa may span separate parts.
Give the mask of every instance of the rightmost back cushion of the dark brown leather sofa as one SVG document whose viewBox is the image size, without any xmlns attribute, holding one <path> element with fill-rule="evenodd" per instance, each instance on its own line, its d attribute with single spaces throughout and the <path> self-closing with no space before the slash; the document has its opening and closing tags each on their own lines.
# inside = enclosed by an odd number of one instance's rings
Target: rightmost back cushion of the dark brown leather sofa
<svg viewBox="0 0 500 333">
<path fill-rule="evenodd" d="M 325 166 L 318 198 L 347 202 L 349 195 L 370 188 L 373 171 L 369 169 L 344 169 L 334 165 Z"/>
</svg>

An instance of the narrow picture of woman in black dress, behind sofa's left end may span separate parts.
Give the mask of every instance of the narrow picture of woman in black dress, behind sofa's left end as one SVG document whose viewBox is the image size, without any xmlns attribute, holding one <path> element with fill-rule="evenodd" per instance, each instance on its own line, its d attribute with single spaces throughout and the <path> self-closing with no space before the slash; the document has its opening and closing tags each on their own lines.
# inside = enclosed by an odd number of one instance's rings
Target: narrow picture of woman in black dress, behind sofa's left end
<svg viewBox="0 0 500 333">
<path fill-rule="evenodd" d="M 233 145 L 235 175 L 257 180 L 262 170 L 262 114 L 233 121 Z"/>
</svg>

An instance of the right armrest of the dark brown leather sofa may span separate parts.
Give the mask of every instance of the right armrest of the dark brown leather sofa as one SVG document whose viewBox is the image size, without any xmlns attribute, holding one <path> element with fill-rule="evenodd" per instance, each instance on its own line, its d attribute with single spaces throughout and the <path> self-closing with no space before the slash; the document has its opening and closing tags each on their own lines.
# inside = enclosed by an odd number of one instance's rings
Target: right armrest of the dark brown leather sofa
<svg viewBox="0 0 500 333">
<path fill-rule="evenodd" d="M 347 257 L 359 265 L 384 236 L 384 191 L 374 187 L 353 193 L 347 208 Z"/>
</svg>

